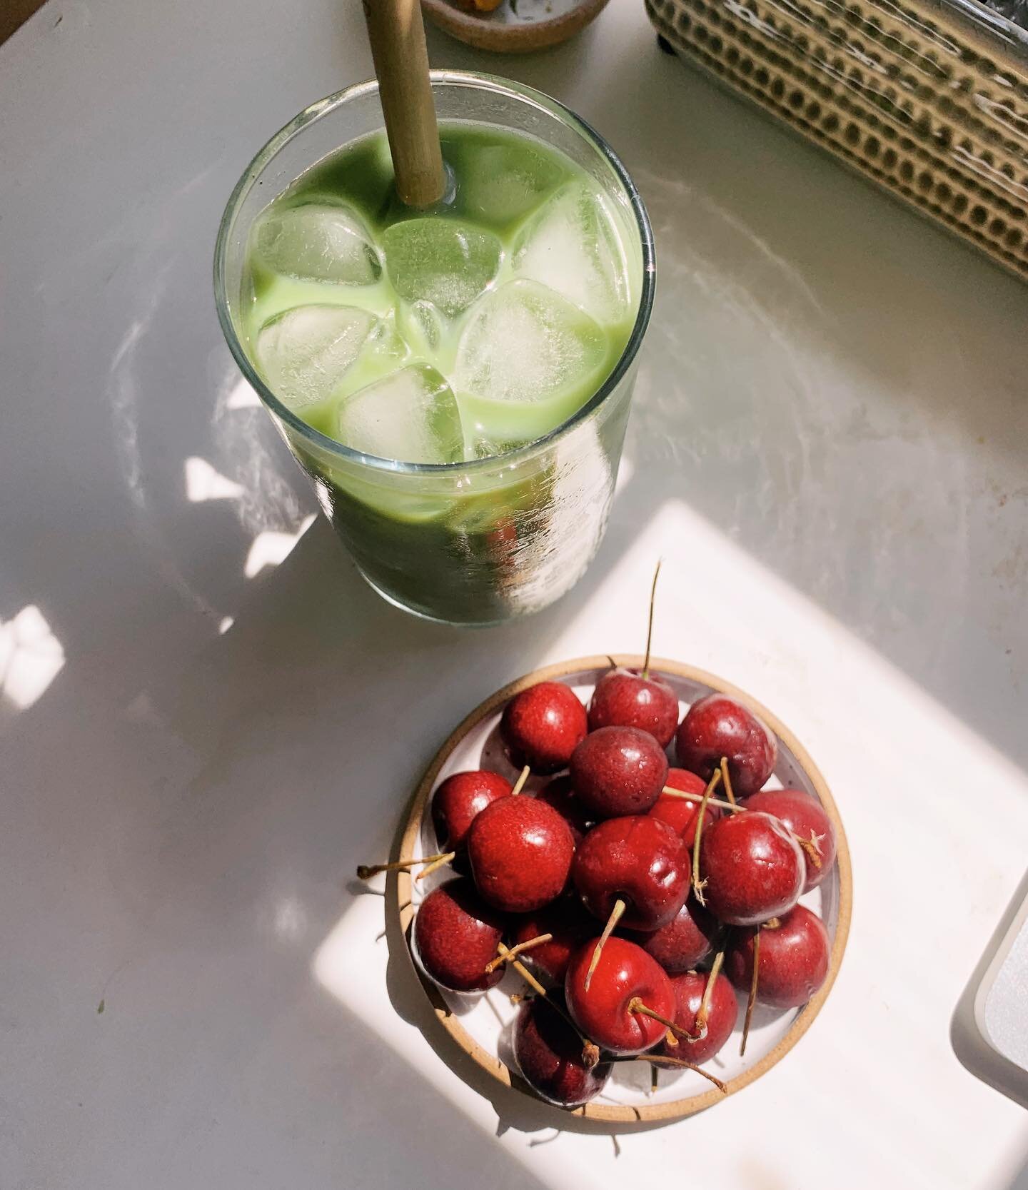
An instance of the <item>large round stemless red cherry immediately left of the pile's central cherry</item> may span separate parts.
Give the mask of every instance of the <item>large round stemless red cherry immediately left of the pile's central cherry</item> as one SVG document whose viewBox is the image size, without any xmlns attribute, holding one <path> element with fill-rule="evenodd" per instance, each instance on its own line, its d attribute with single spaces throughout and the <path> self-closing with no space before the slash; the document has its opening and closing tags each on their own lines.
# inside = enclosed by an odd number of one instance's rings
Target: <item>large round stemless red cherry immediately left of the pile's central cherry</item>
<svg viewBox="0 0 1028 1190">
<path fill-rule="evenodd" d="M 501 797 L 468 833 L 468 859 L 484 901 L 508 913 L 541 909 L 564 891 L 575 840 L 563 818 L 538 797 Z"/>
</svg>

